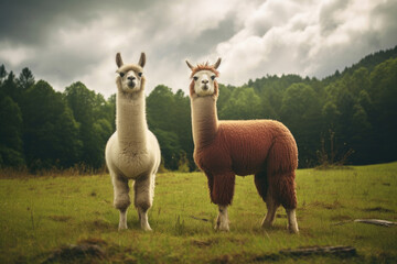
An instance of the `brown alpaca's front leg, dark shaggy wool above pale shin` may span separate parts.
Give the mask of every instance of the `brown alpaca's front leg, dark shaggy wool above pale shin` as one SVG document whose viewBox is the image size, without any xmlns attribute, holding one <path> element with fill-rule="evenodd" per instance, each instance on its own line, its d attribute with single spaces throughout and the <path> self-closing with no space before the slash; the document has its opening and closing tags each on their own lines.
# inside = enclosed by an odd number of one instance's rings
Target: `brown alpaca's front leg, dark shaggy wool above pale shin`
<svg viewBox="0 0 397 264">
<path fill-rule="evenodd" d="M 216 174 L 213 177 L 213 191 L 211 198 L 214 204 L 218 205 L 218 216 L 215 226 L 216 230 L 229 230 L 227 206 L 232 204 L 235 178 L 236 176 L 234 173 Z"/>
</svg>

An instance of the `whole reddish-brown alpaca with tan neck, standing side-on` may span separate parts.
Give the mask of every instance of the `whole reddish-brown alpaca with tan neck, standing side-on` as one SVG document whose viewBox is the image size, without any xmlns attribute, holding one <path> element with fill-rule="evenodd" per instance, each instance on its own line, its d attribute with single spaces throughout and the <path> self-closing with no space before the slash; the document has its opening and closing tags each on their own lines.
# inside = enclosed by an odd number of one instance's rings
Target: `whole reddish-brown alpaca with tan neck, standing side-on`
<svg viewBox="0 0 397 264">
<path fill-rule="evenodd" d="M 267 206 L 262 227 L 271 227 L 281 205 L 288 229 L 298 233 L 296 169 L 298 147 L 291 132 L 273 120 L 218 121 L 216 77 L 221 58 L 191 68 L 190 98 L 194 162 L 208 179 L 212 202 L 218 206 L 216 230 L 228 231 L 227 207 L 232 204 L 235 175 L 255 175 L 258 194 Z"/>
</svg>

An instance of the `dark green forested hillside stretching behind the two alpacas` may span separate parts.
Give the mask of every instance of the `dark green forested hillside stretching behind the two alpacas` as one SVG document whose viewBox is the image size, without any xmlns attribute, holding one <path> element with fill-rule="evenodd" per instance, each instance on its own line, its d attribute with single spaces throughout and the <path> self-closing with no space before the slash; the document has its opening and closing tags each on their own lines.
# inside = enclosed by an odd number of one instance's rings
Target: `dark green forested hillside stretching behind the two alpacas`
<svg viewBox="0 0 397 264">
<path fill-rule="evenodd" d="M 266 74 L 266 73 L 265 73 Z M 269 76 L 242 87 L 219 85 L 219 119 L 276 119 L 293 133 L 300 167 L 397 160 L 397 46 L 324 79 Z M 169 169 L 195 169 L 190 99 L 159 85 L 147 98 L 150 129 Z M 82 82 L 64 92 L 0 66 L 0 167 L 104 167 L 115 131 L 115 96 Z"/>
</svg>

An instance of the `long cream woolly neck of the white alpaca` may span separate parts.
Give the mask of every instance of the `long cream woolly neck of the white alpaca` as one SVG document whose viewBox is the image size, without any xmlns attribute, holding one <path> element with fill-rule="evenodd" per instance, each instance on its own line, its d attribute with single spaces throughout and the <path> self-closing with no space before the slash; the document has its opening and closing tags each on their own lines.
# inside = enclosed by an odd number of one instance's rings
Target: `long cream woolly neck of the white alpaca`
<svg viewBox="0 0 397 264">
<path fill-rule="evenodd" d="M 147 147 L 147 119 L 144 94 L 125 95 L 120 91 L 116 97 L 116 125 L 120 148 L 138 152 Z"/>
</svg>

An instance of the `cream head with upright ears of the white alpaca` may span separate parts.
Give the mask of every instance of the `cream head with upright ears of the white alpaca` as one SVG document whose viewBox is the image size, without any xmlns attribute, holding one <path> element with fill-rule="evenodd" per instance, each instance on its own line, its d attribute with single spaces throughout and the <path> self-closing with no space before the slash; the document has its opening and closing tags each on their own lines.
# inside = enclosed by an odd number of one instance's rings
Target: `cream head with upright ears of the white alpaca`
<svg viewBox="0 0 397 264">
<path fill-rule="evenodd" d="M 146 55 L 141 53 L 138 64 L 124 64 L 120 53 L 116 54 L 116 64 L 118 69 L 116 73 L 116 84 L 119 91 L 124 94 L 133 94 L 142 91 L 144 88 L 143 66 L 146 64 Z"/>
</svg>

